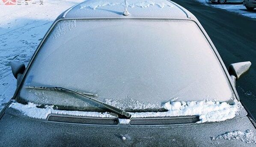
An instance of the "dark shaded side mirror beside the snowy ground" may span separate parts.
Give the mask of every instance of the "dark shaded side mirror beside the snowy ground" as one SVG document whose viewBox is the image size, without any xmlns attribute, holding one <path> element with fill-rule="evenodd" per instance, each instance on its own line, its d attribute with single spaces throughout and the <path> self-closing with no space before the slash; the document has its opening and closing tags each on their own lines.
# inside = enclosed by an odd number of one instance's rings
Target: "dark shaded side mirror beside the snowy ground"
<svg viewBox="0 0 256 147">
<path fill-rule="evenodd" d="M 13 61 L 11 64 L 11 67 L 12 67 L 12 74 L 17 79 L 17 86 L 18 86 L 26 67 L 24 64 L 17 61 Z"/>
</svg>

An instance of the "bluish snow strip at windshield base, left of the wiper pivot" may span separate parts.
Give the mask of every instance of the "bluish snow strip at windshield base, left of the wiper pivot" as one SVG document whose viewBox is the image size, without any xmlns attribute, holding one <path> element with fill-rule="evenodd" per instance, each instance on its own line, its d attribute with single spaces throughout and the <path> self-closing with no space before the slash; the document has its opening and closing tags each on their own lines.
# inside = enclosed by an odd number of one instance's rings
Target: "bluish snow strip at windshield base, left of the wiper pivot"
<svg viewBox="0 0 256 147">
<path fill-rule="evenodd" d="M 49 114 L 62 114 L 62 115 L 74 115 L 74 116 L 90 116 L 101 118 L 114 118 L 113 115 L 107 112 L 84 112 L 84 111 L 66 111 L 66 110 L 54 110 L 53 106 L 47 106 L 46 108 L 38 108 L 38 105 L 28 103 L 27 105 L 13 102 L 10 104 L 10 108 L 21 111 L 24 115 L 31 118 L 46 119 Z"/>
</svg>

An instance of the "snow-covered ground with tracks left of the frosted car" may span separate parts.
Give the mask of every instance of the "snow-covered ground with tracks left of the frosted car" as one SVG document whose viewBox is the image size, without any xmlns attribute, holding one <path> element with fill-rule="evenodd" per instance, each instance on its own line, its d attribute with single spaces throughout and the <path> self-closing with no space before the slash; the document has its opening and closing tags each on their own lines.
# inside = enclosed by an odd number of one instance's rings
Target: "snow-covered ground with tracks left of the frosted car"
<svg viewBox="0 0 256 147">
<path fill-rule="evenodd" d="M 12 98 L 16 79 L 10 63 L 27 63 L 55 18 L 65 9 L 83 0 L 24 0 L 18 5 L 4 5 L 0 0 L 0 111 Z M 36 2 L 35 4 L 33 4 Z"/>
</svg>

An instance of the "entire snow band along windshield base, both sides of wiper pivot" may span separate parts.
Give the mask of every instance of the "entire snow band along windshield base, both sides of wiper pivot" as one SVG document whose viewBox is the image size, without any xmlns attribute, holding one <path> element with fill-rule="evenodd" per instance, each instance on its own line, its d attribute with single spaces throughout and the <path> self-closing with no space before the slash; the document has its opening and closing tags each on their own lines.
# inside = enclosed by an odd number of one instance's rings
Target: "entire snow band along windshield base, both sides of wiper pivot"
<svg viewBox="0 0 256 147">
<path fill-rule="evenodd" d="M 75 115 L 75 116 L 91 116 L 91 117 L 113 117 L 107 112 L 82 112 L 82 111 L 64 111 L 56 110 L 53 106 L 45 108 L 39 108 L 38 105 L 28 103 L 27 105 L 20 104 L 18 102 L 12 102 L 9 107 L 21 111 L 24 115 L 46 119 L 49 114 L 63 114 L 63 115 Z M 234 118 L 239 111 L 241 103 L 235 101 L 234 104 L 228 104 L 226 102 L 220 103 L 214 100 L 204 101 L 188 101 L 188 102 L 167 102 L 163 104 L 163 108 L 168 110 L 167 112 L 131 112 L 132 118 L 144 118 L 144 117 L 167 117 L 167 116 L 199 116 L 200 121 L 214 122 L 225 121 L 227 119 Z M 120 123 L 128 124 L 129 119 L 119 119 Z"/>
</svg>

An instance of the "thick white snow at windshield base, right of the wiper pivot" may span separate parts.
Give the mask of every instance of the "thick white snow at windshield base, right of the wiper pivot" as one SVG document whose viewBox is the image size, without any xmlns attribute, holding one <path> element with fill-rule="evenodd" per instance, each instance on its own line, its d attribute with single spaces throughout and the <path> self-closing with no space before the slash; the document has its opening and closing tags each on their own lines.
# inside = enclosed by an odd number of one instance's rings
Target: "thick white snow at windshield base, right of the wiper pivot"
<svg viewBox="0 0 256 147">
<path fill-rule="evenodd" d="M 164 108 L 167 112 L 135 112 L 131 113 L 132 118 L 141 117 L 166 117 L 166 116 L 199 116 L 200 121 L 215 122 L 225 121 L 235 117 L 236 112 L 242 107 L 241 103 L 235 101 L 230 105 L 219 101 L 188 101 L 188 102 L 167 102 Z"/>
</svg>

